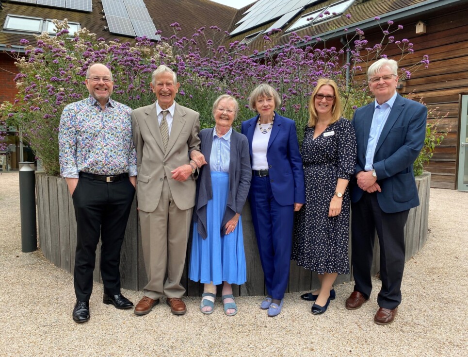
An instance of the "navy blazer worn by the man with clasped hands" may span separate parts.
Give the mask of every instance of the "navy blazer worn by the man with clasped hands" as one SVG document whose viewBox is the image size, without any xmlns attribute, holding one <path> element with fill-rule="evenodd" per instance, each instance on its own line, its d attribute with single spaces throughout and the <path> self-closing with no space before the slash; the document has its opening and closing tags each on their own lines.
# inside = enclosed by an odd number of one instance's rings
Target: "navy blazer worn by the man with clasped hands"
<svg viewBox="0 0 468 357">
<path fill-rule="evenodd" d="M 356 109 L 353 126 L 357 141 L 355 174 L 364 170 L 371 131 L 374 102 Z M 377 201 L 386 213 L 401 212 L 419 205 L 414 180 L 413 163 L 418 157 L 426 135 L 427 108 L 419 102 L 397 94 L 387 122 L 375 149 L 373 168 L 382 192 Z M 364 191 L 352 182 L 351 202 L 355 203 Z"/>
</svg>

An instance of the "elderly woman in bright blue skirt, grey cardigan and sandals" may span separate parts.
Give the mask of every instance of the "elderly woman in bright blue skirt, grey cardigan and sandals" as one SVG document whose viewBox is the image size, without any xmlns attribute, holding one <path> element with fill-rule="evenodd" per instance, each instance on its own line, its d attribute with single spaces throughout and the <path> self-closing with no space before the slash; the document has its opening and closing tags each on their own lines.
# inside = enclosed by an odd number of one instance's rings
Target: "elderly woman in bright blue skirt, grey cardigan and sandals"
<svg viewBox="0 0 468 357">
<path fill-rule="evenodd" d="M 223 283 L 224 311 L 235 315 L 231 284 L 241 285 L 247 278 L 241 213 L 252 171 L 247 138 L 231 127 L 238 110 L 233 97 L 218 97 L 213 104 L 216 125 L 199 134 L 207 164 L 197 180 L 189 278 L 205 284 L 204 314 L 213 312 L 216 285 Z"/>
</svg>

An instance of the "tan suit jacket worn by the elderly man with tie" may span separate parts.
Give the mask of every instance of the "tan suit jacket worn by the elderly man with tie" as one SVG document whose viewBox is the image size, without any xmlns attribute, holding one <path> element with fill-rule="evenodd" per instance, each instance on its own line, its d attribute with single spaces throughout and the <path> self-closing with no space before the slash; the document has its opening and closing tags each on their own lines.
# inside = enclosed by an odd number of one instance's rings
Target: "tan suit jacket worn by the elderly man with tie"
<svg viewBox="0 0 468 357">
<path fill-rule="evenodd" d="M 133 141 L 137 152 L 138 208 L 153 212 L 159 204 L 164 175 L 167 176 L 174 202 L 185 210 L 195 205 L 195 180 L 172 179 L 171 171 L 190 162 L 189 153 L 200 150 L 200 114 L 176 103 L 171 134 L 164 153 L 156 103 L 132 112 Z"/>
</svg>

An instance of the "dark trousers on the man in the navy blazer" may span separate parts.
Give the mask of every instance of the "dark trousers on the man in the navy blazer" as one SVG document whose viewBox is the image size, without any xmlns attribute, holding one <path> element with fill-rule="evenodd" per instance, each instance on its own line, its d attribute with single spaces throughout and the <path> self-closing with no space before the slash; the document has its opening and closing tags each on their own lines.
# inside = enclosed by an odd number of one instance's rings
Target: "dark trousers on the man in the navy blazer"
<svg viewBox="0 0 468 357">
<path fill-rule="evenodd" d="M 394 309 L 402 302 L 404 269 L 404 225 L 409 210 L 385 213 L 375 193 L 364 192 L 351 204 L 351 264 L 355 291 L 369 298 L 372 290 L 371 264 L 375 231 L 380 244 L 380 278 L 382 288 L 377 297 L 380 307 Z"/>
</svg>

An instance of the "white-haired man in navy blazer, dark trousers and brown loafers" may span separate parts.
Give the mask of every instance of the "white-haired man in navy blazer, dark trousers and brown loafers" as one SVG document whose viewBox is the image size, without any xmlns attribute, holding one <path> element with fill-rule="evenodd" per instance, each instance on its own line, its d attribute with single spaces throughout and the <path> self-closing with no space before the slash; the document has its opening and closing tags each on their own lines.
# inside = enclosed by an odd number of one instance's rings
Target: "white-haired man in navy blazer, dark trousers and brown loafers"
<svg viewBox="0 0 468 357">
<path fill-rule="evenodd" d="M 372 102 L 355 111 L 355 180 L 351 191 L 354 291 L 346 308 L 355 310 L 371 295 L 374 232 L 380 243 L 382 288 L 374 322 L 393 322 L 402 301 L 404 225 L 419 205 L 413 162 L 424 143 L 427 109 L 396 92 L 398 63 L 382 58 L 368 69 Z"/>
</svg>

